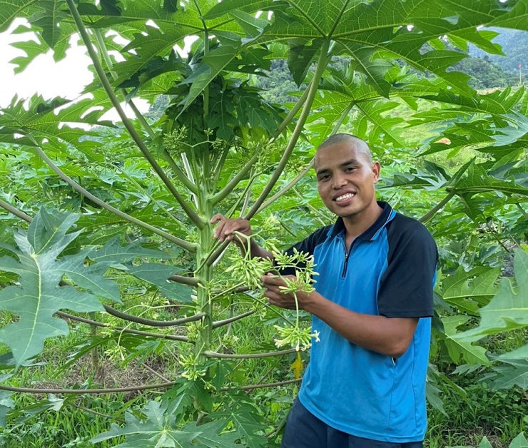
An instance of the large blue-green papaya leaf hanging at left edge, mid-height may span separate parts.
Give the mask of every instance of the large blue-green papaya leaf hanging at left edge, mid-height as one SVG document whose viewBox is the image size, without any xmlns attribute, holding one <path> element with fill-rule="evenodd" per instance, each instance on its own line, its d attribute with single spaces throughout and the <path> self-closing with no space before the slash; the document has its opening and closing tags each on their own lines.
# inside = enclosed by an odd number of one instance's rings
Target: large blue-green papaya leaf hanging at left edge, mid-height
<svg viewBox="0 0 528 448">
<path fill-rule="evenodd" d="M 16 366 L 39 355 L 44 340 L 68 334 L 68 324 L 53 317 L 61 309 L 103 311 L 96 295 L 118 298 L 116 285 L 101 272 L 84 268 L 86 251 L 58 258 L 79 232 L 67 233 L 76 217 L 50 215 L 41 209 L 26 232 L 15 234 L 18 248 L 4 245 L 18 259 L 0 258 L 0 270 L 19 275 L 19 285 L 0 291 L 0 308 L 13 312 L 18 321 L 0 329 L 0 341 L 13 352 Z M 64 276 L 75 279 L 88 292 L 70 285 L 59 286 Z"/>
</svg>

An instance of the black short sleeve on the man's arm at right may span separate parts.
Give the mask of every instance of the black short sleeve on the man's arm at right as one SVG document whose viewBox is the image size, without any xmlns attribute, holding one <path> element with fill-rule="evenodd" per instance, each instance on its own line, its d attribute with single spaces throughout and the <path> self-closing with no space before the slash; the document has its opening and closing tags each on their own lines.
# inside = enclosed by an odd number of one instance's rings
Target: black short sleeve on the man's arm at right
<svg viewBox="0 0 528 448">
<path fill-rule="evenodd" d="M 397 214 L 387 226 L 387 269 L 377 305 L 386 317 L 432 317 L 438 252 L 422 223 Z"/>
</svg>

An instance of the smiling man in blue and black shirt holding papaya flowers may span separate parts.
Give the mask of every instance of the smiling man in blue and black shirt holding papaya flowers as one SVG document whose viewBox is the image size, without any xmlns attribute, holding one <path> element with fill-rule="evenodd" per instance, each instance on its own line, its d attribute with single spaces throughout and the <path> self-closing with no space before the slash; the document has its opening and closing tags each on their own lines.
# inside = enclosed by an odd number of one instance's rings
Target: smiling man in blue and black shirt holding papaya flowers
<svg viewBox="0 0 528 448">
<path fill-rule="evenodd" d="M 376 201 L 380 164 L 359 138 L 324 141 L 315 173 L 337 221 L 295 245 L 315 257 L 316 291 L 297 298 L 320 342 L 312 345 L 283 447 L 422 447 L 435 242 L 422 224 Z M 234 231 L 251 235 L 247 220 L 211 220 L 218 221 L 219 240 L 233 240 Z M 250 249 L 271 256 L 254 241 Z M 271 305 L 295 308 L 280 278 L 262 280 Z"/>
</svg>

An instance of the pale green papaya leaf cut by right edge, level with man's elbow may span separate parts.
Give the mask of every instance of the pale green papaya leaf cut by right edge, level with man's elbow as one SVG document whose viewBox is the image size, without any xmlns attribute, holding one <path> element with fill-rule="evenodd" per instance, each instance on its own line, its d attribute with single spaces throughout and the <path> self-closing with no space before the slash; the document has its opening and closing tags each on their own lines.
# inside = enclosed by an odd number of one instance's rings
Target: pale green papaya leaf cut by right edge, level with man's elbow
<svg viewBox="0 0 528 448">
<path fill-rule="evenodd" d="M 516 250 L 514 256 L 517 291 L 503 278 L 499 291 L 479 310 L 479 326 L 455 336 L 460 342 L 474 342 L 484 336 L 528 327 L 528 253 Z"/>
</svg>

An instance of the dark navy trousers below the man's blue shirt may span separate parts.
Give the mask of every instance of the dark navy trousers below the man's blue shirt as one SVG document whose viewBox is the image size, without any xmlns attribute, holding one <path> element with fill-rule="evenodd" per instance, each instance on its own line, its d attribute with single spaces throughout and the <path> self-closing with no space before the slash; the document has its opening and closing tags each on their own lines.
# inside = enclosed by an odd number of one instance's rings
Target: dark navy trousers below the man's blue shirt
<svg viewBox="0 0 528 448">
<path fill-rule="evenodd" d="M 295 399 L 286 422 L 282 448 L 423 448 L 422 442 L 391 443 L 355 437 L 338 431 L 310 414 Z"/>
</svg>

